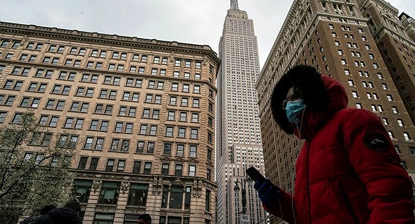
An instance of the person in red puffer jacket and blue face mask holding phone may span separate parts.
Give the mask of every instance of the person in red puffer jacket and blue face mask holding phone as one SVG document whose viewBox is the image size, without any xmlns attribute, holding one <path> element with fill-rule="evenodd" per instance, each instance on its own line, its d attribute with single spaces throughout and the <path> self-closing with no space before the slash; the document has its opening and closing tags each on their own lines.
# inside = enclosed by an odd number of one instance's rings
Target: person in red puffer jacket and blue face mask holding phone
<svg viewBox="0 0 415 224">
<path fill-rule="evenodd" d="M 412 183 L 379 118 L 347 109 L 347 93 L 311 66 L 274 88 L 273 117 L 304 139 L 295 194 L 256 182 L 265 209 L 288 223 L 415 223 Z"/>
</svg>

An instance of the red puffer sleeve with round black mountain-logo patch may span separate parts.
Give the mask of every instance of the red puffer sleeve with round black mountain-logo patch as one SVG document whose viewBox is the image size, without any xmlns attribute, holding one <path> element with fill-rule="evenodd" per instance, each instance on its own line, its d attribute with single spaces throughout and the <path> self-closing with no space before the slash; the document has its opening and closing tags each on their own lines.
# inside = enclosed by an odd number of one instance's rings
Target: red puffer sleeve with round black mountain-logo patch
<svg viewBox="0 0 415 224">
<path fill-rule="evenodd" d="M 344 145 L 356 174 L 366 186 L 368 223 L 414 223 L 412 182 L 380 119 L 353 110 L 344 120 Z"/>
</svg>

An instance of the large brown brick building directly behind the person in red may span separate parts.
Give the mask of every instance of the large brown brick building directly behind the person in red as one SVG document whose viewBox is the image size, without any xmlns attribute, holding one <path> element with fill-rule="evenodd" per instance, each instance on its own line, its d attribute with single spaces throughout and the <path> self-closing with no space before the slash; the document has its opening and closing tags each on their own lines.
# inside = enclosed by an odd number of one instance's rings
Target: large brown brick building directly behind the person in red
<svg viewBox="0 0 415 224">
<path fill-rule="evenodd" d="M 295 160 L 303 142 L 279 129 L 270 111 L 270 96 L 282 74 L 296 64 L 315 66 L 320 73 L 340 81 L 347 90 L 349 107 L 376 113 L 385 124 L 401 165 L 415 178 L 415 129 L 409 115 L 412 112 L 407 111 L 404 103 L 409 89 L 405 97 L 400 94 L 400 87 L 395 85 L 396 74 L 382 57 L 385 48 L 389 54 L 396 52 L 391 48 L 405 49 L 395 59 L 404 59 L 405 55 L 407 62 L 405 59 L 400 62 L 405 64 L 401 66 L 400 76 L 402 80 L 405 76 L 403 82 L 410 85 L 414 81 L 410 69 L 414 59 L 410 55 L 415 55 L 415 45 L 402 26 L 390 32 L 394 35 L 389 37 L 385 36 L 386 31 L 374 35 L 372 19 L 364 13 L 374 4 L 385 6 L 387 13 L 397 15 L 397 10 L 385 1 L 293 1 L 266 59 L 256 84 L 266 176 L 288 192 L 293 191 Z M 365 6 L 366 9 L 360 8 Z M 394 19 L 395 22 L 398 21 Z M 400 41 L 396 44 L 393 39 Z M 382 42 L 385 48 L 380 47 Z M 386 47 L 387 44 L 396 46 Z"/>
</svg>

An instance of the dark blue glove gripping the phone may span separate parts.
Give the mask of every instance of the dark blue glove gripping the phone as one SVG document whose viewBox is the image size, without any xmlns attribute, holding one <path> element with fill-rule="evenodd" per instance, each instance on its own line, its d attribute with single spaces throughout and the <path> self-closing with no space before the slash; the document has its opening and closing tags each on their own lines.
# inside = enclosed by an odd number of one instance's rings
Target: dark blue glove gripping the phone
<svg viewBox="0 0 415 224">
<path fill-rule="evenodd" d="M 266 207 L 276 207 L 278 205 L 279 188 L 271 183 L 270 179 L 255 181 L 254 188 L 258 191 L 258 196 Z"/>
</svg>

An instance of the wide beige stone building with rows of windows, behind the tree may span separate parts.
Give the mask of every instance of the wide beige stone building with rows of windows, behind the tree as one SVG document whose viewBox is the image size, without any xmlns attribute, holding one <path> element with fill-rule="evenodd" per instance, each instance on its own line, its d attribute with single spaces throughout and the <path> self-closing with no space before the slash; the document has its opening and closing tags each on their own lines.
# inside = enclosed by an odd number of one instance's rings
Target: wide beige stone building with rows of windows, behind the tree
<svg viewBox="0 0 415 224">
<path fill-rule="evenodd" d="M 71 133 L 84 223 L 214 223 L 209 46 L 1 22 L 0 52 L 0 123 Z"/>
</svg>

